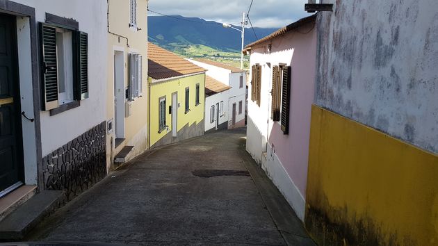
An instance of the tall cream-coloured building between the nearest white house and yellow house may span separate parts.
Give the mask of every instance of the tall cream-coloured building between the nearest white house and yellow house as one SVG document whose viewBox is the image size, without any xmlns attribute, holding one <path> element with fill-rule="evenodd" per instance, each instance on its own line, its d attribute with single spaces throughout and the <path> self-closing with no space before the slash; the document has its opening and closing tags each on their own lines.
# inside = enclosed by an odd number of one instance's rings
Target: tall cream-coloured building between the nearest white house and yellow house
<svg viewBox="0 0 438 246">
<path fill-rule="evenodd" d="M 147 149 L 147 0 L 108 1 L 107 168 Z"/>
</svg>

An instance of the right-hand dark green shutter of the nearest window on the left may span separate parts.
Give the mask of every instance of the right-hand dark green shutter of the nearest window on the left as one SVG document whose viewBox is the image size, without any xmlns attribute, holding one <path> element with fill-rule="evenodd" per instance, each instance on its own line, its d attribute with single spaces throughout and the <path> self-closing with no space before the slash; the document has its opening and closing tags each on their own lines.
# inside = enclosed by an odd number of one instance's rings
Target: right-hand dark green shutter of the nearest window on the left
<svg viewBox="0 0 438 246">
<path fill-rule="evenodd" d="M 89 97 L 88 92 L 88 34 L 79 32 L 78 35 L 78 97 L 76 99 L 83 100 Z"/>
</svg>

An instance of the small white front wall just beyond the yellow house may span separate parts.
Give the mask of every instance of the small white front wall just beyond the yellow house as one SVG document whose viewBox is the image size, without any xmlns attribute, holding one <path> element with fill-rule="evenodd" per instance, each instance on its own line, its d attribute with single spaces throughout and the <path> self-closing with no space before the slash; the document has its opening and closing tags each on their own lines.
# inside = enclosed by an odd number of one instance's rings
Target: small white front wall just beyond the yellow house
<svg viewBox="0 0 438 246">
<path fill-rule="evenodd" d="M 215 119 L 215 122 L 213 123 L 210 122 L 211 120 L 210 108 L 211 106 L 215 105 L 215 110 L 217 111 L 218 108 L 216 108 L 216 104 L 219 104 L 220 106 L 220 101 L 224 102 L 224 107 L 223 107 L 223 112 L 221 112 L 221 114 L 219 115 L 219 124 L 223 124 L 224 122 L 228 121 L 228 115 L 229 115 L 228 97 L 229 97 L 229 90 L 225 90 L 223 92 L 205 98 L 205 117 L 204 117 L 205 131 L 209 131 L 210 129 L 216 128 L 217 119 Z M 216 117 L 216 113 L 215 113 L 215 117 Z"/>
</svg>

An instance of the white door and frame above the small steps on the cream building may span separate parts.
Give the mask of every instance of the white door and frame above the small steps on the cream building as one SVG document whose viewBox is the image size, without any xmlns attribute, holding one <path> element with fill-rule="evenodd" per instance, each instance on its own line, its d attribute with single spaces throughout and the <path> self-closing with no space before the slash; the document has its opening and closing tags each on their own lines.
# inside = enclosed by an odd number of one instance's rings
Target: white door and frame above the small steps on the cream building
<svg viewBox="0 0 438 246">
<path fill-rule="evenodd" d="M 124 79 L 126 77 L 126 69 L 124 64 L 126 62 L 124 56 L 124 49 L 122 47 L 113 47 L 113 106 L 114 106 L 114 136 L 115 138 L 125 137 L 124 127 Z M 116 71 L 121 72 L 116 77 Z M 120 92 L 117 92 L 120 90 Z"/>
</svg>

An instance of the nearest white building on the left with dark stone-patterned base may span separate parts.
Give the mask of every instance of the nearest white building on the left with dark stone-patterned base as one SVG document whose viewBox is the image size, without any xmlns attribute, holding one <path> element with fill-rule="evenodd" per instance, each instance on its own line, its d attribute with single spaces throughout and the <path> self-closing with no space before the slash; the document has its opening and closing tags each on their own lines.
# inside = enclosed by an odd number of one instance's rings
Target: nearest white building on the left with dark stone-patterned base
<svg viewBox="0 0 438 246">
<path fill-rule="evenodd" d="M 74 197 L 107 173 L 106 1 L 0 3 L 0 202 Z"/>
</svg>

